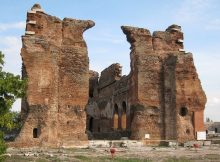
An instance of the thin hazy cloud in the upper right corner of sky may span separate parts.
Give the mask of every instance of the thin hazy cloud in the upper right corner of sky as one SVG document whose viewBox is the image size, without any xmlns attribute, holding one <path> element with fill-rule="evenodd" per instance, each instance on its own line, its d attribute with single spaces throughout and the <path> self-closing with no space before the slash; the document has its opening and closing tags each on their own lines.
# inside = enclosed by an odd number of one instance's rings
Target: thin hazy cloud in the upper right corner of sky
<svg viewBox="0 0 220 162">
<path fill-rule="evenodd" d="M 220 30 L 220 18 L 213 14 L 217 8 L 217 0 L 184 0 L 175 11 L 175 20 L 177 23 L 192 24 L 199 28 L 215 31 Z"/>
</svg>

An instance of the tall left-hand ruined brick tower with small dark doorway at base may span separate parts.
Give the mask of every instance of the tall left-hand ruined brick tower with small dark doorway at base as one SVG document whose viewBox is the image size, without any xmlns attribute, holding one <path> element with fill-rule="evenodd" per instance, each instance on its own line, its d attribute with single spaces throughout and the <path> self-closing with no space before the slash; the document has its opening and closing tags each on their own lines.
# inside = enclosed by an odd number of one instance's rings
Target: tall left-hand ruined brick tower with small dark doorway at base
<svg viewBox="0 0 220 162">
<path fill-rule="evenodd" d="M 22 112 L 28 114 L 18 145 L 57 147 L 87 139 L 89 60 L 82 35 L 92 26 L 92 21 L 47 15 L 38 4 L 28 11 L 21 49 L 28 78 Z"/>
</svg>

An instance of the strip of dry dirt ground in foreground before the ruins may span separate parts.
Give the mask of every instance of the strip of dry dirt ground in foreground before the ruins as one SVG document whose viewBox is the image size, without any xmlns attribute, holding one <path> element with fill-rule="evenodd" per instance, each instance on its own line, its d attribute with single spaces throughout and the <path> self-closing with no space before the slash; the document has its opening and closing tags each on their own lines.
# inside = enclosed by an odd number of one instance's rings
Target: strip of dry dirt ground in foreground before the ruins
<svg viewBox="0 0 220 162">
<path fill-rule="evenodd" d="M 111 158 L 109 148 L 71 148 L 49 149 L 9 148 L 5 155 L 6 162 L 220 162 L 220 145 L 202 146 L 197 150 L 188 147 L 129 147 L 115 148 L 114 158 Z"/>
</svg>

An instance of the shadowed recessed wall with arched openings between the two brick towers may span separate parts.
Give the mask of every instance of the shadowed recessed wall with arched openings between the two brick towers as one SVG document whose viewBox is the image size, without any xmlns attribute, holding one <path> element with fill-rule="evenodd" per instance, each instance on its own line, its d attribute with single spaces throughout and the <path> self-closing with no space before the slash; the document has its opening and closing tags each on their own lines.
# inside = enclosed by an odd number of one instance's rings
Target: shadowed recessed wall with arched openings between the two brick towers
<svg viewBox="0 0 220 162">
<path fill-rule="evenodd" d="M 118 63 L 110 65 L 98 74 L 91 72 L 90 85 L 93 97 L 89 99 L 87 110 L 87 130 L 95 139 L 120 139 L 129 136 L 130 109 L 128 105 L 128 77 L 121 76 L 121 66 Z M 123 110 L 124 106 L 124 110 Z M 117 110 L 116 110 L 117 107 Z M 114 113 L 118 114 L 118 129 L 114 129 Z M 125 112 L 123 112 L 125 111 Z M 126 113 L 122 130 L 122 114 Z M 90 134 L 89 133 L 89 134 Z"/>
</svg>

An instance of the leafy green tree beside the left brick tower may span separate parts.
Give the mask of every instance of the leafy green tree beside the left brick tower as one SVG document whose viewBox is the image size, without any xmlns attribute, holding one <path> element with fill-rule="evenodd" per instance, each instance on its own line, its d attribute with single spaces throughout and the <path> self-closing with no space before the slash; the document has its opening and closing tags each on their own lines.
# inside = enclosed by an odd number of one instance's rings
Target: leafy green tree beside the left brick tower
<svg viewBox="0 0 220 162">
<path fill-rule="evenodd" d="M 26 82 L 19 75 L 3 71 L 4 54 L 0 51 L 0 154 L 6 151 L 2 130 L 17 127 L 16 113 L 10 111 L 17 98 L 24 96 Z"/>
</svg>

